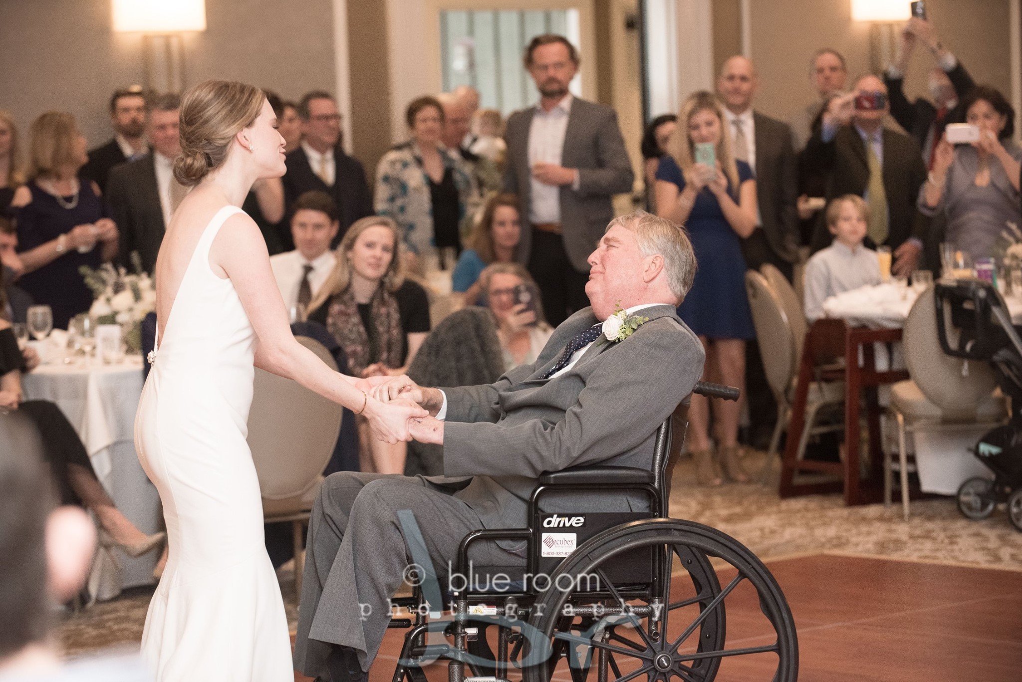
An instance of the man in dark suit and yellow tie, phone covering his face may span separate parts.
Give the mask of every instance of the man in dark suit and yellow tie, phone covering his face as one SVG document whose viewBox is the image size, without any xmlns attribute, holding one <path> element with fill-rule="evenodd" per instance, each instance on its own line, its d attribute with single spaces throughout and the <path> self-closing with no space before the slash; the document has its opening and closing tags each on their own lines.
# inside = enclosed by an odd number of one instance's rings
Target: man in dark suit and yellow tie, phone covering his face
<svg viewBox="0 0 1022 682">
<path fill-rule="evenodd" d="M 856 108 L 856 99 L 879 101 L 887 88 L 876 76 L 864 76 L 852 91 L 827 105 L 805 153 L 827 174 L 827 199 L 857 194 L 870 203 L 867 245 L 891 247 L 891 271 L 908 276 L 917 268 L 929 219 L 916 208 L 919 188 L 926 181 L 923 154 L 914 137 L 884 128 L 888 104 Z M 812 235 L 812 249 L 831 242 L 821 220 Z"/>
</svg>

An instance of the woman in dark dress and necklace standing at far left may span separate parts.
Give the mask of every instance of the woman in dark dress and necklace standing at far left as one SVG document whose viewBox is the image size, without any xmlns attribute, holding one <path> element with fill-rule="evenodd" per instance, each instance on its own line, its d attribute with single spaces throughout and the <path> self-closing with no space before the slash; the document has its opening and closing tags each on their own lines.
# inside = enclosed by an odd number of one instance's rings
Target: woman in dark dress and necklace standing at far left
<svg viewBox="0 0 1022 682">
<path fill-rule="evenodd" d="M 25 274 L 18 284 L 37 304 L 53 309 L 64 329 L 92 305 L 79 268 L 98 268 L 118 254 L 118 227 L 93 182 L 78 171 L 89 160 L 86 139 L 69 113 L 50 111 L 32 124 L 29 183 L 12 202 Z"/>
</svg>

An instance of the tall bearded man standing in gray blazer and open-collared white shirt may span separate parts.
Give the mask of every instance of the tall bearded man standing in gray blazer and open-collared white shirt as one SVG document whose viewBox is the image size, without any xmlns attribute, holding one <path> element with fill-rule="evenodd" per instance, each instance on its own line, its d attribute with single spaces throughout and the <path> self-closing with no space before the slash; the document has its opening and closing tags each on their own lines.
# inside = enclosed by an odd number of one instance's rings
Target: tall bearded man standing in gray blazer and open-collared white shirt
<svg viewBox="0 0 1022 682">
<path fill-rule="evenodd" d="M 635 173 L 609 106 L 573 97 L 578 51 L 563 36 L 537 36 L 525 69 L 540 102 L 508 119 L 505 191 L 518 194 L 518 260 L 540 286 L 554 326 L 589 305 L 587 257 L 613 217 L 612 194 L 632 191 Z"/>
</svg>

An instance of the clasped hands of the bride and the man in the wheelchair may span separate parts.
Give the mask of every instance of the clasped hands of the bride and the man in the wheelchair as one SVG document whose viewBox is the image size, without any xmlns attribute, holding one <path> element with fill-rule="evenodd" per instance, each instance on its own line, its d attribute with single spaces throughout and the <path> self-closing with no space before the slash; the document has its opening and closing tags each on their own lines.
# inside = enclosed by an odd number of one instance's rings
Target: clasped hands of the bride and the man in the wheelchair
<svg viewBox="0 0 1022 682">
<path fill-rule="evenodd" d="M 435 418 L 444 395 L 437 389 L 420 387 L 405 374 L 370 376 L 356 381 L 355 388 L 366 392 L 363 414 L 376 438 L 444 445 L 444 422 Z"/>
</svg>

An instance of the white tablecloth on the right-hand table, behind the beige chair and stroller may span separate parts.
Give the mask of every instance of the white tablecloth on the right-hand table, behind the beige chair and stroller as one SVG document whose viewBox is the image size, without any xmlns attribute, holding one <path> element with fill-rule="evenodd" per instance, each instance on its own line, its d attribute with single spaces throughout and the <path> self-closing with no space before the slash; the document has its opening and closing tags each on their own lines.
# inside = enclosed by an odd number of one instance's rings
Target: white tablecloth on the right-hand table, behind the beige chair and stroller
<svg viewBox="0 0 1022 682">
<path fill-rule="evenodd" d="M 918 294 L 911 287 L 899 290 L 892 283 L 863 286 L 824 301 L 824 313 L 827 317 L 844 318 L 853 326 L 898 329 L 904 326 L 909 311 L 917 298 Z M 1022 299 L 1008 297 L 1005 303 L 1008 304 L 1012 322 L 1022 324 Z M 933 333 L 936 332 L 934 329 Z M 900 345 L 894 349 L 892 363 L 896 369 L 904 367 L 903 361 L 898 357 L 899 347 Z M 886 368 L 886 349 L 878 349 L 879 369 Z M 883 397 L 881 402 L 885 403 Z M 990 426 L 978 426 L 974 431 L 915 434 L 908 447 L 910 452 L 915 450 L 920 488 L 926 493 L 954 495 L 967 479 L 989 475 L 989 470 L 968 450 L 989 428 Z"/>
</svg>

